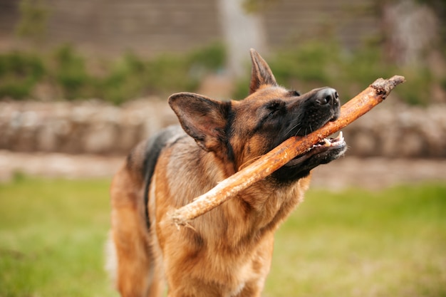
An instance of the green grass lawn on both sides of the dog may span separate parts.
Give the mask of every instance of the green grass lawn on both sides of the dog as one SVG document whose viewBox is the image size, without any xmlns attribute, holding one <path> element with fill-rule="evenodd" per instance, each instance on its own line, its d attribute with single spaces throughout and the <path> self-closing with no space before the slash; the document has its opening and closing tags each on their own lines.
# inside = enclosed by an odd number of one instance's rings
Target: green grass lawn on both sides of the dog
<svg viewBox="0 0 446 297">
<path fill-rule="evenodd" d="M 0 297 L 117 296 L 109 181 L 0 184 Z M 446 184 L 313 189 L 276 236 L 264 296 L 446 296 Z"/>
</svg>

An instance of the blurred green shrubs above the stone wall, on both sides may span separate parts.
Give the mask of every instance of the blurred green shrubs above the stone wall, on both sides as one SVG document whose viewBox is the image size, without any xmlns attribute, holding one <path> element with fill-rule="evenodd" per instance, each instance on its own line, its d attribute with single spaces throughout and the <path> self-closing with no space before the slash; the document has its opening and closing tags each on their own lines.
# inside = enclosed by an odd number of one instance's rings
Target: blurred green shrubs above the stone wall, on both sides
<svg viewBox="0 0 446 297">
<path fill-rule="evenodd" d="M 145 95 L 165 97 L 180 91 L 195 92 L 200 81 L 226 63 L 224 46 L 212 44 L 184 54 L 163 53 L 142 58 L 125 53 L 115 60 L 85 58 L 70 45 L 51 55 L 12 52 L 0 54 L 0 98 L 32 98 L 35 88 L 46 83 L 58 90 L 55 99 L 99 98 L 115 104 Z M 424 66 L 398 67 L 385 61 L 377 45 L 343 51 L 336 41 L 308 41 L 299 47 L 281 49 L 265 57 L 279 83 L 302 93 L 330 85 L 345 102 L 376 78 L 404 75 L 407 82 L 393 95 L 414 105 L 431 102 L 433 85 L 446 90 L 446 79 L 436 78 Z M 98 71 L 99 69 L 99 71 Z M 233 98 L 248 93 L 249 68 L 237 80 Z M 56 98 L 57 96 L 57 98 Z"/>
</svg>

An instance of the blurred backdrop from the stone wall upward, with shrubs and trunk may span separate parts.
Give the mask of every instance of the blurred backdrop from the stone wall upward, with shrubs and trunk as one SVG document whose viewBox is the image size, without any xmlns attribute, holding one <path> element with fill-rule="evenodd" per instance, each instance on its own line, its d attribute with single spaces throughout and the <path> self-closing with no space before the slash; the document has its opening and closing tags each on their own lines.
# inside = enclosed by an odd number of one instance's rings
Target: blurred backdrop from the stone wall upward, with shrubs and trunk
<svg viewBox="0 0 446 297">
<path fill-rule="evenodd" d="M 404 75 L 348 155 L 446 157 L 446 5 L 425 1 L 0 0 L 0 149 L 124 155 L 168 95 L 247 95 L 249 48 L 287 88 L 343 102 Z"/>
</svg>

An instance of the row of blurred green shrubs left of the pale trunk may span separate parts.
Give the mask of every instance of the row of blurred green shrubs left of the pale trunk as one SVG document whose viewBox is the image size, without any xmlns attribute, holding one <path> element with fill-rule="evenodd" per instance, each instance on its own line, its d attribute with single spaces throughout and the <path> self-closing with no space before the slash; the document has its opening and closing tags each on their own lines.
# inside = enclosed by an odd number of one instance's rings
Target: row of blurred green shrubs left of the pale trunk
<svg viewBox="0 0 446 297">
<path fill-rule="evenodd" d="M 70 44 L 48 56 L 1 54 L 0 98 L 30 98 L 39 83 L 51 85 L 63 99 L 100 98 L 116 104 L 143 95 L 195 91 L 204 75 L 223 67 L 225 52 L 216 43 L 185 54 L 163 53 L 150 59 L 128 52 L 115 60 L 92 60 Z"/>
</svg>

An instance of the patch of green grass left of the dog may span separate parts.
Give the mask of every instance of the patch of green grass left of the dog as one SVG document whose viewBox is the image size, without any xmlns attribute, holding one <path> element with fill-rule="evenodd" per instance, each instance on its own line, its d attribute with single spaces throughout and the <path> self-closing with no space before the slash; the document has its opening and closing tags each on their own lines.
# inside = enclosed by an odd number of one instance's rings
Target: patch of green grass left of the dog
<svg viewBox="0 0 446 297">
<path fill-rule="evenodd" d="M 117 296 L 103 269 L 108 182 L 0 185 L 0 296 Z"/>
</svg>

